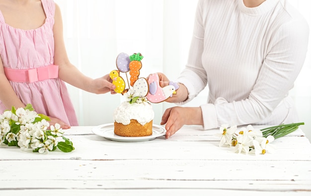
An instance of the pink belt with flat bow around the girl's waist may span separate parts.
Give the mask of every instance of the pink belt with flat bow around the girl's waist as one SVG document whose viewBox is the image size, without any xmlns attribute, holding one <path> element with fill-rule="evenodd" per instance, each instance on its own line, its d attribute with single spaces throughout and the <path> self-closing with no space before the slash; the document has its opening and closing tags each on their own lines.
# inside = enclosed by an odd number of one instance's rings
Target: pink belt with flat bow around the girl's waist
<svg viewBox="0 0 311 196">
<path fill-rule="evenodd" d="M 48 65 L 34 69 L 10 69 L 4 67 L 6 78 L 12 82 L 37 82 L 52 78 L 58 78 L 58 66 Z"/>
</svg>

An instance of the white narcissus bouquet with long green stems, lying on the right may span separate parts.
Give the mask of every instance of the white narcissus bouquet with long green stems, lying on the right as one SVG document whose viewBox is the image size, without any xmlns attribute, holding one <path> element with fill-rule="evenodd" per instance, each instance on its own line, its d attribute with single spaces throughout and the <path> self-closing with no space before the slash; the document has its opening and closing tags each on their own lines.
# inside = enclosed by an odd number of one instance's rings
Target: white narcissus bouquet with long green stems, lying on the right
<svg viewBox="0 0 311 196">
<path fill-rule="evenodd" d="M 275 147 L 271 142 L 296 131 L 300 125 L 304 124 L 303 122 L 281 124 L 260 130 L 254 129 L 251 125 L 240 129 L 237 129 L 236 125 L 230 128 L 228 125 L 222 125 L 219 129 L 220 133 L 215 136 L 220 137 L 219 147 L 234 147 L 234 152 L 256 155 L 273 153 Z"/>
</svg>

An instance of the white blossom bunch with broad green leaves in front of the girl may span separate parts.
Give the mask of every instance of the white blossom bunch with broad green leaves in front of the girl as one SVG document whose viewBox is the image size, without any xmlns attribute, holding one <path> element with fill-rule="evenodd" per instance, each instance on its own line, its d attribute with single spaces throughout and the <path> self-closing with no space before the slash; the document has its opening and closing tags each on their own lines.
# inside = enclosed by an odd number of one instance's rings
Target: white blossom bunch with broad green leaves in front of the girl
<svg viewBox="0 0 311 196">
<path fill-rule="evenodd" d="M 73 143 L 63 136 L 60 125 L 56 123 L 50 126 L 49 120 L 48 116 L 37 114 L 31 104 L 25 108 L 12 107 L 0 115 L 0 144 L 39 153 L 57 148 L 63 152 L 74 150 Z"/>
</svg>

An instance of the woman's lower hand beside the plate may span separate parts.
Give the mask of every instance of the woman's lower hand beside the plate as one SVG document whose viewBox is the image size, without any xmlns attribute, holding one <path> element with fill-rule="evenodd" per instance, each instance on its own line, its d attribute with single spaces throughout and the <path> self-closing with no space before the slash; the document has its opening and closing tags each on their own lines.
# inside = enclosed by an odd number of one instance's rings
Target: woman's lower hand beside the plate
<svg viewBox="0 0 311 196">
<path fill-rule="evenodd" d="M 175 134 L 183 125 L 203 125 L 201 107 L 171 107 L 165 110 L 161 125 L 165 125 L 165 138 Z"/>
</svg>

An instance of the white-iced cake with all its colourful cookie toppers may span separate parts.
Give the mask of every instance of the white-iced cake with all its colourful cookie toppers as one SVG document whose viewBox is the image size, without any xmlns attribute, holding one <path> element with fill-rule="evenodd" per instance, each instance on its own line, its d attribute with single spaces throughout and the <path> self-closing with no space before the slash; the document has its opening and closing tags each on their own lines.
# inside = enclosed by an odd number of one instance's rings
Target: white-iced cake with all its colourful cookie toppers
<svg viewBox="0 0 311 196">
<path fill-rule="evenodd" d="M 158 103 L 171 97 L 178 89 L 178 85 L 171 83 L 164 88 L 159 85 L 157 74 L 151 74 L 148 78 L 139 78 L 142 69 L 143 55 L 134 53 L 128 55 L 120 53 L 116 59 L 118 70 L 110 72 L 112 83 L 116 86 L 115 92 L 124 96 L 122 102 L 113 113 L 114 133 L 123 137 L 143 137 L 152 135 L 153 119 L 155 112 L 151 103 Z M 126 75 L 126 83 L 120 76 Z M 130 74 L 130 83 L 127 73 Z"/>
</svg>

